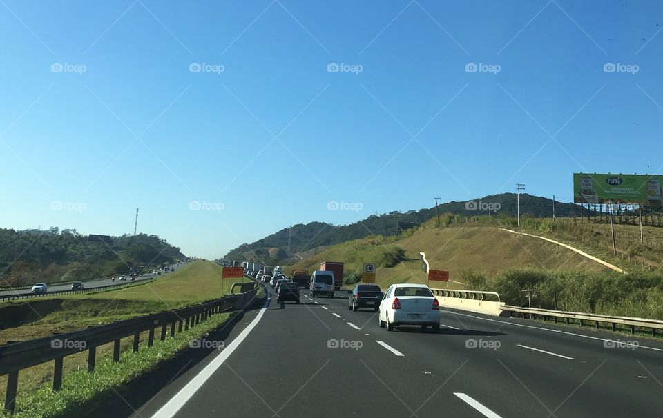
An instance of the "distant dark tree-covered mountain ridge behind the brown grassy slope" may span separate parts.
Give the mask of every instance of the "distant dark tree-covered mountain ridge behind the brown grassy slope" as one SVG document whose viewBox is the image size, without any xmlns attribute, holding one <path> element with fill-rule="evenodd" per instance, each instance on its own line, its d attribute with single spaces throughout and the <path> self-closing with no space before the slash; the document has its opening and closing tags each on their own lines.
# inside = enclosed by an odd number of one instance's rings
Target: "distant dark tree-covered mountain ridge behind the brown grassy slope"
<svg viewBox="0 0 663 418">
<path fill-rule="evenodd" d="M 521 215 L 529 217 L 552 217 L 553 200 L 546 197 L 520 195 Z M 573 203 L 555 201 L 557 217 L 573 216 Z M 438 205 L 437 212 L 454 213 L 456 215 L 487 215 L 516 216 L 517 195 L 501 193 L 474 199 L 472 201 L 450 201 Z M 435 207 L 423 208 L 419 211 L 390 212 L 383 215 L 371 215 L 361 221 L 348 225 L 334 226 L 330 223 L 311 222 L 298 223 L 290 228 L 283 228 L 253 243 L 244 243 L 228 252 L 224 259 L 255 261 L 269 264 L 282 263 L 298 252 L 311 250 L 320 246 L 363 238 L 367 235 L 396 235 L 397 224 L 406 229 L 417 223 L 423 223 L 435 217 Z"/>
</svg>

